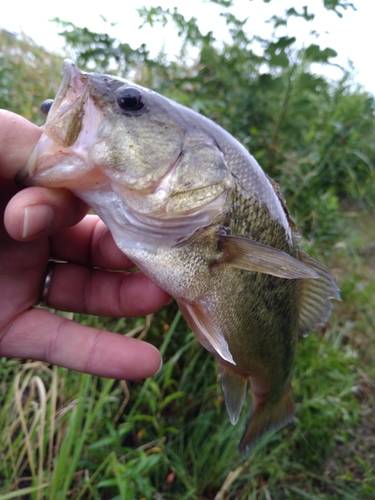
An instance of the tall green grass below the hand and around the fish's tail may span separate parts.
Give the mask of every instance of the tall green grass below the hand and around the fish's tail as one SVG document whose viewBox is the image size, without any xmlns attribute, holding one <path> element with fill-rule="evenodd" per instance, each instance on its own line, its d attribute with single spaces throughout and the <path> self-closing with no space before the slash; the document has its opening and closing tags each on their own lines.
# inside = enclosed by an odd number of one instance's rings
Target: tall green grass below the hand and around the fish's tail
<svg viewBox="0 0 375 500">
<path fill-rule="evenodd" d="M 137 336 L 146 324 L 164 367 L 125 383 L 3 359 L 0 498 L 375 498 L 374 214 L 343 216 L 345 239 L 320 249 L 343 302 L 298 343 L 293 424 L 238 454 L 250 397 L 233 427 L 215 361 L 175 304 L 151 321 L 77 316 Z"/>
</svg>

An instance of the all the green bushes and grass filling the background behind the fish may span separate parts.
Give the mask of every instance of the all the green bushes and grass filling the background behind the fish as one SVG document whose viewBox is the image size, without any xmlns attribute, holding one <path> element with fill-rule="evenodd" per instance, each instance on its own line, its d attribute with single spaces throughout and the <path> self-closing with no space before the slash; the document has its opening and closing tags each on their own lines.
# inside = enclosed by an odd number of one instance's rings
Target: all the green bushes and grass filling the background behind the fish
<svg viewBox="0 0 375 500">
<path fill-rule="evenodd" d="M 69 22 L 63 35 L 81 67 L 130 75 L 220 123 L 281 185 L 303 246 L 325 261 L 343 299 L 329 324 L 298 344 L 295 421 L 242 458 L 237 444 L 251 402 L 231 426 L 215 361 L 175 304 L 152 318 L 75 315 L 127 335 L 147 332 L 164 367 L 135 383 L 1 360 L 4 500 L 375 497 L 374 98 L 345 72 L 331 82 L 312 71 L 312 63 L 333 60 L 333 49 L 298 49 L 293 37 L 278 35 L 292 16 L 309 22 L 307 8 L 272 18 L 272 38 L 259 40 L 231 14 L 230 0 L 215 3 L 232 37 L 225 44 L 176 10 L 140 12 L 144 22 L 177 25 L 179 62 Z M 324 3 L 340 15 L 350 8 Z M 41 120 L 36 110 L 56 91 L 60 60 L 30 40 L 0 36 L 0 106 Z"/>
</svg>

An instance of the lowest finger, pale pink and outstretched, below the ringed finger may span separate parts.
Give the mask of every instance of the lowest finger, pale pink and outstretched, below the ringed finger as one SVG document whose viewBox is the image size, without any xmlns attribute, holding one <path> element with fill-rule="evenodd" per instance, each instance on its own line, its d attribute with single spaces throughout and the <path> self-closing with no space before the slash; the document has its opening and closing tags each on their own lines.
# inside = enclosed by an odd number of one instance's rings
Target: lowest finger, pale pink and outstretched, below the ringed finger
<svg viewBox="0 0 375 500">
<path fill-rule="evenodd" d="M 161 366 L 160 353 L 151 344 L 79 325 L 42 309 L 32 309 L 13 323 L 0 343 L 0 353 L 121 380 L 150 377 Z"/>
</svg>

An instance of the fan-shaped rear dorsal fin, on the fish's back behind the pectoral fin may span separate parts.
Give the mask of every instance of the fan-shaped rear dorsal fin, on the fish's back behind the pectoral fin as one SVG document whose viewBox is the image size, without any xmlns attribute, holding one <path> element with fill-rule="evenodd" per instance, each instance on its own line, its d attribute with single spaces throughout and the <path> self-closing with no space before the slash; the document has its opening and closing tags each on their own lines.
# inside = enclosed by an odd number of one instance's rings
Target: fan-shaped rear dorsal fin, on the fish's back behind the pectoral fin
<svg viewBox="0 0 375 500">
<path fill-rule="evenodd" d="M 340 290 L 327 269 L 306 253 L 300 252 L 302 262 L 313 269 L 319 278 L 301 281 L 299 332 L 307 335 L 317 326 L 324 325 L 333 309 L 331 299 L 340 299 Z"/>
</svg>

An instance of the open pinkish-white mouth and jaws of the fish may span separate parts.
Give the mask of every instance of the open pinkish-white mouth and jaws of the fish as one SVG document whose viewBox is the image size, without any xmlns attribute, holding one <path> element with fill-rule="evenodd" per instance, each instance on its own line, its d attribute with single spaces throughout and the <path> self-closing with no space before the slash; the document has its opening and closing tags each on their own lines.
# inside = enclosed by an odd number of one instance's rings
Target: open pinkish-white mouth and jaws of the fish
<svg viewBox="0 0 375 500">
<path fill-rule="evenodd" d="M 88 155 L 104 116 L 90 99 L 87 82 L 86 73 L 72 61 L 64 61 L 63 80 L 42 127 L 43 134 L 17 175 L 22 185 L 74 191 L 82 185 L 91 189 L 106 182 Z M 85 126 L 86 115 L 90 127 Z"/>
</svg>

